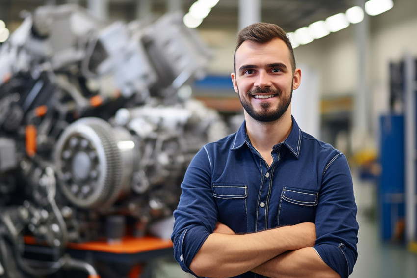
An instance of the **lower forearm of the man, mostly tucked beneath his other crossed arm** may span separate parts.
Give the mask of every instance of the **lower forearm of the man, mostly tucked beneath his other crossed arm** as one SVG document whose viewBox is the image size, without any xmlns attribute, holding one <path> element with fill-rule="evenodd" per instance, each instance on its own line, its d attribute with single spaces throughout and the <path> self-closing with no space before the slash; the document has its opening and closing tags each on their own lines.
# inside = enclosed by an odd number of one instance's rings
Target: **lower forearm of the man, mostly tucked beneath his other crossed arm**
<svg viewBox="0 0 417 278">
<path fill-rule="evenodd" d="M 252 272 L 271 278 L 340 278 L 311 247 L 285 252 Z"/>
</svg>

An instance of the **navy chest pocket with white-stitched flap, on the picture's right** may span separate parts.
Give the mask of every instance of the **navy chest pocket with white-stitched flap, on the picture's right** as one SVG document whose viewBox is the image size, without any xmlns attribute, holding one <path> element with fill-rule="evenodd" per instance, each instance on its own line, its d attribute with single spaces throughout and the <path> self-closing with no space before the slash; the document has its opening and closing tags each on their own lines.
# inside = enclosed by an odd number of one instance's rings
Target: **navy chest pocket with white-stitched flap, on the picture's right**
<svg viewBox="0 0 417 278">
<path fill-rule="evenodd" d="M 284 187 L 278 208 L 277 225 L 315 222 L 318 192 Z"/>
</svg>

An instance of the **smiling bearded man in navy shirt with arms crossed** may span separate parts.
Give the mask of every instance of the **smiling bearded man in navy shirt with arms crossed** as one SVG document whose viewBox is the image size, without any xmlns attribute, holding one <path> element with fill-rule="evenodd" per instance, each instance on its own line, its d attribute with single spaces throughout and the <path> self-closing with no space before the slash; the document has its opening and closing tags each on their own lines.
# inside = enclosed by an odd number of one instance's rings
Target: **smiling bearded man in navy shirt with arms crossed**
<svg viewBox="0 0 417 278">
<path fill-rule="evenodd" d="M 358 232 L 349 167 L 291 116 L 301 71 L 286 33 L 266 23 L 242 29 L 234 68 L 245 121 L 187 169 L 176 260 L 203 277 L 348 277 Z"/>
</svg>

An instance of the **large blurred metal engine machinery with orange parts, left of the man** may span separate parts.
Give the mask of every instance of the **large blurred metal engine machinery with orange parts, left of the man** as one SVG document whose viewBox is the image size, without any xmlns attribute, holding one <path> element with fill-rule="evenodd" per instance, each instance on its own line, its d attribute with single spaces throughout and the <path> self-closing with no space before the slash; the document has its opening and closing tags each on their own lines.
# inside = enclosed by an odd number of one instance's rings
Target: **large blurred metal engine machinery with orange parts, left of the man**
<svg viewBox="0 0 417 278">
<path fill-rule="evenodd" d="M 140 237 L 172 216 L 188 163 L 226 134 L 186 86 L 209 56 L 181 14 L 110 25 L 74 5 L 26 14 L 0 48 L 0 278 L 96 275 L 69 243 Z M 54 258 L 25 257 L 24 239 Z"/>
</svg>

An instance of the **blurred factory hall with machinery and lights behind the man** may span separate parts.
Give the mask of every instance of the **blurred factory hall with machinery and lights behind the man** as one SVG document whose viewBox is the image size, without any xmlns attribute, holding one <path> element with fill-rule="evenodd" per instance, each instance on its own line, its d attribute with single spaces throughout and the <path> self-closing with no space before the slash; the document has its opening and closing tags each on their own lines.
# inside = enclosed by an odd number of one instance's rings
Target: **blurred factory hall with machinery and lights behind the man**
<svg viewBox="0 0 417 278">
<path fill-rule="evenodd" d="M 0 0 L 1 278 L 186 277 L 169 240 L 178 185 L 243 120 L 230 73 L 254 22 L 291 39 L 301 129 L 348 158 L 351 277 L 417 276 L 416 0 Z M 145 249 L 108 240 L 149 232 L 128 243 Z"/>
</svg>

